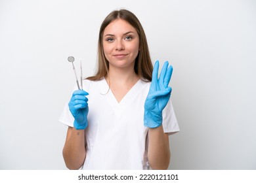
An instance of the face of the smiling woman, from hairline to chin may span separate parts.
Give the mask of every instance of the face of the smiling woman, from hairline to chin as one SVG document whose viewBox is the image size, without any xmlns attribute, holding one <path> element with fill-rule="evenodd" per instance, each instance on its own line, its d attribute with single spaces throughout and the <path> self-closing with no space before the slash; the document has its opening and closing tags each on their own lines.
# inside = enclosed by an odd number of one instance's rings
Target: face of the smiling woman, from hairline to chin
<svg viewBox="0 0 256 183">
<path fill-rule="evenodd" d="M 139 35 L 131 24 L 121 19 L 114 20 L 104 29 L 102 41 L 110 68 L 134 68 L 139 53 Z"/>
</svg>

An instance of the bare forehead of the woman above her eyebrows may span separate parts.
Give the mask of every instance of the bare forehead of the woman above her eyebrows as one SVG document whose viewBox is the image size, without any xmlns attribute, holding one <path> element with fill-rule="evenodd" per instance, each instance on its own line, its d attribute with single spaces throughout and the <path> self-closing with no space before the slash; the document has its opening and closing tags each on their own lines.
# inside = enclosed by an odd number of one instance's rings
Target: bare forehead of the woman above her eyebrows
<svg viewBox="0 0 256 183">
<path fill-rule="evenodd" d="M 106 26 L 106 28 L 104 29 L 104 35 L 105 34 L 118 35 L 118 34 L 122 34 L 122 33 L 127 33 L 129 31 L 133 31 L 134 33 L 137 33 L 135 27 L 133 27 L 127 21 L 117 19 L 117 20 L 110 22 L 110 24 L 108 24 Z"/>
</svg>

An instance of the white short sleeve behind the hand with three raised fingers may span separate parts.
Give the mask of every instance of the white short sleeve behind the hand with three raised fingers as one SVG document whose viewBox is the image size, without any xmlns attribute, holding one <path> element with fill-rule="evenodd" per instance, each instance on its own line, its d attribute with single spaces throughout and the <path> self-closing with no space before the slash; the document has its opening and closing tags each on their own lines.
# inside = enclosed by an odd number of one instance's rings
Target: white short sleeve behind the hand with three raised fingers
<svg viewBox="0 0 256 183">
<path fill-rule="evenodd" d="M 180 131 L 171 99 L 163 109 L 163 131 L 169 135 L 173 135 L 174 133 Z"/>
</svg>

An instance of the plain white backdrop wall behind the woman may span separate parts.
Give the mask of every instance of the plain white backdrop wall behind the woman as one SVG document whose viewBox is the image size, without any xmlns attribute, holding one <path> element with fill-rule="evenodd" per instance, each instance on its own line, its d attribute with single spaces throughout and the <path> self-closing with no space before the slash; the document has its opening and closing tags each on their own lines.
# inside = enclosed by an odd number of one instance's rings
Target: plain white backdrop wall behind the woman
<svg viewBox="0 0 256 183">
<path fill-rule="evenodd" d="M 139 18 L 152 60 L 174 68 L 181 131 L 170 137 L 169 169 L 256 169 L 253 0 L 0 0 L 0 169 L 66 169 L 67 58 L 93 75 L 98 29 L 119 8 Z"/>
</svg>

